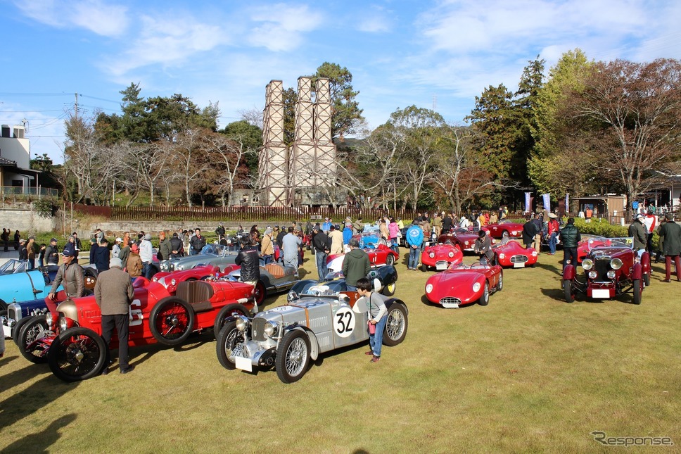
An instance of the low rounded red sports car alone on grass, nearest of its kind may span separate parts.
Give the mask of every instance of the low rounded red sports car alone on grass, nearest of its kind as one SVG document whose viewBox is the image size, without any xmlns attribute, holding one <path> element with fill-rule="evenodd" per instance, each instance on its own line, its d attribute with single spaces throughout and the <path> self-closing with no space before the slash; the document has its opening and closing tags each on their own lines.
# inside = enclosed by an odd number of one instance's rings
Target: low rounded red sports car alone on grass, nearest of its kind
<svg viewBox="0 0 681 454">
<path fill-rule="evenodd" d="M 448 270 L 428 277 L 426 298 L 443 308 L 459 308 L 478 303 L 488 305 L 490 294 L 504 286 L 504 271 L 499 265 L 452 265 Z"/>
</svg>

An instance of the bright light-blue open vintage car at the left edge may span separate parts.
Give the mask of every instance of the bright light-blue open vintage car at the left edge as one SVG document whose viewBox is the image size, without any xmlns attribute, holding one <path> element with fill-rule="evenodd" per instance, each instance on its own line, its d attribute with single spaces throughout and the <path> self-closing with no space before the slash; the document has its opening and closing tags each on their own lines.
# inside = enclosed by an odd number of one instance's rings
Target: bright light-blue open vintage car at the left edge
<svg viewBox="0 0 681 454">
<path fill-rule="evenodd" d="M 0 310 L 7 310 L 10 303 L 45 298 L 50 292 L 57 270 L 57 266 L 49 266 L 0 275 Z"/>
</svg>

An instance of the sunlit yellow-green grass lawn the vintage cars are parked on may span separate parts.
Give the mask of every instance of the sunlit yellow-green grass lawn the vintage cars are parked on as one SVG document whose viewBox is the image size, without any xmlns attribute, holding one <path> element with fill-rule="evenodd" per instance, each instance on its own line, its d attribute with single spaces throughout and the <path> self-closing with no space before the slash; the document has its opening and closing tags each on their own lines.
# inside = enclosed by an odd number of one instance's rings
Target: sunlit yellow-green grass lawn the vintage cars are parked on
<svg viewBox="0 0 681 454">
<path fill-rule="evenodd" d="M 0 450 L 609 449 L 592 431 L 681 443 L 681 284 L 661 282 L 661 265 L 639 306 L 630 296 L 565 303 L 559 256 L 542 254 L 535 268 L 505 270 L 504 290 L 488 306 L 446 310 L 424 303 L 431 272 L 405 263 L 395 294 L 409 306 L 405 342 L 383 348 L 376 364 L 364 345 L 323 355 L 291 385 L 274 370 L 225 370 L 210 332 L 182 348 L 132 348 L 132 374 L 78 384 L 27 362 L 8 340 Z M 316 275 L 314 257 L 305 269 Z M 272 297 L 266 308 L 285 302 Z"/>
</svg>

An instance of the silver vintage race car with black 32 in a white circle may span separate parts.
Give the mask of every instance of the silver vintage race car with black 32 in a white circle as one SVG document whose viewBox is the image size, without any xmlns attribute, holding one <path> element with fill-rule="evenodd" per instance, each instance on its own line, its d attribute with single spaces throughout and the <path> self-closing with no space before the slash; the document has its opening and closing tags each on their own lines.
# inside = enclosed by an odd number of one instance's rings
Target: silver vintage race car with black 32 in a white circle
<svg viewBox="0 0 681 454">
<path fill-rule="evenodd" d="M 383 343 L 395 346 L 407 336 L 407 305 L 392 298 L 386 306 Z M 364 298 L 357 301 L 354 291 L 293 294 L 287 305 L 227 322 L 217 335 L 217 359 L 229 370 L 274 366 L 281 382 L 293 383 L 320 354 L 366 342 L 368 320 Z"/>
</svg>

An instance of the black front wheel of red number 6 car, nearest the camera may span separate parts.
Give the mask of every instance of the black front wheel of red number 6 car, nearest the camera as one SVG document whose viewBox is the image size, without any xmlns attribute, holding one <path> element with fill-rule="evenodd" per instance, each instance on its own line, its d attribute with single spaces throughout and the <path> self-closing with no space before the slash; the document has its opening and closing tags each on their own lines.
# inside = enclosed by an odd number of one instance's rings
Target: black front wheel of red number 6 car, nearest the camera
<svg viewBox="0 0 681 454">
<path fill-rule="evenodd" d="M 78 382 L 101 374 L 106 367 L 108 346 L 91 329 L 71 328 L 54 339 L 47 358 L 58 379 Z"/>
</svg>

